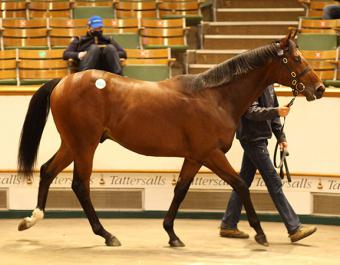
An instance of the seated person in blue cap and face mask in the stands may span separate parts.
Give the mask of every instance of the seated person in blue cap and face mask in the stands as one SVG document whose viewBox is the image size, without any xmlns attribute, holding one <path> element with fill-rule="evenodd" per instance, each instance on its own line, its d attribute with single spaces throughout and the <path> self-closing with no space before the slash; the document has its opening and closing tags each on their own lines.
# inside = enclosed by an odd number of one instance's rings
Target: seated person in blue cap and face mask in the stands
<svg viewBox="0 0 340 265">
<path fill-rule="evenodd" d="M 75 37 L 64 51 L 63 59 L 78 63 L 78 71 L 100 69 L 122 75 L 120 58 L 126 58 L 125 50 L 113 39 L 103 35 L 103 20 L 92 16 L 88 20 L 86 36 Z"/>
</svg>

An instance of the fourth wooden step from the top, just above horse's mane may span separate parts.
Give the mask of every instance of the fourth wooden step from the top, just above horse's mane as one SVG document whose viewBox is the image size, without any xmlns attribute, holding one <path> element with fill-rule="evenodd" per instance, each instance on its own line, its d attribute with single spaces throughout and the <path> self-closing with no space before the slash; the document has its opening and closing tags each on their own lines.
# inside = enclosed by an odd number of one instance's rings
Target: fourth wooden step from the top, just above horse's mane
<svg viewBox="0 0 340 265">
<path fill-rule="evenodd" d="M 254 49 L 282 39 L 285 35 L 205 35 L 204 49 Z"/>
</svg>

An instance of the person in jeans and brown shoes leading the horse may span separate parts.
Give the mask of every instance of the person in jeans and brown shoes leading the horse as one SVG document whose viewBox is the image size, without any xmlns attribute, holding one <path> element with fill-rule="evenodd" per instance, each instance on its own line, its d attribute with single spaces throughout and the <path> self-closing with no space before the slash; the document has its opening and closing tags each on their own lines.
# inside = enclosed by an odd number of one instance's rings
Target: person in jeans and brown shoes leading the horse
<svg viewBox="0 0 340 265">
<path fill-rule="evenodd" d="M 268 139 L 272 134 L 279 141 L 281 149 L 287 148 L 285 134 L 281 131 L 280 117 L 286 117 L 289 107 L 279 107 L 274 87 L 268 86 L 242 116 L 236 137 L 244 150 L 240 177 L 250 187 L 256 170 L 266 183 L 269 194 L 278 210 L 292 242 L 305 238 L 316 231 L 314 226 L 302 226 L 282 190 L 281 178 L 276 173 L 268 152 Z M 282 133 L 281 133 L 282 132 Z M 229 238 L 248 238 L 249 235 L 238 230 L 242 210 L 241 201 L 232 191 L 226 212 L 220 226 L 220 236 Z"/>
</svg>

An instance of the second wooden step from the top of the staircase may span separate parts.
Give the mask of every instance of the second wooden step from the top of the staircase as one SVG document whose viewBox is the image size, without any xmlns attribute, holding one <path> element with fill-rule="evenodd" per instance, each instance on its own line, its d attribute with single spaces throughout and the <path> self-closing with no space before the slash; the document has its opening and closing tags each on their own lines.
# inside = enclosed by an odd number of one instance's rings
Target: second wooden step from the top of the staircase
<svg viewBox="0 0 340 265">
<path fill-rule="evenodd" d="M 303 8 L 218 8 L 216 21 L 298 21 Z"/>
</svg>

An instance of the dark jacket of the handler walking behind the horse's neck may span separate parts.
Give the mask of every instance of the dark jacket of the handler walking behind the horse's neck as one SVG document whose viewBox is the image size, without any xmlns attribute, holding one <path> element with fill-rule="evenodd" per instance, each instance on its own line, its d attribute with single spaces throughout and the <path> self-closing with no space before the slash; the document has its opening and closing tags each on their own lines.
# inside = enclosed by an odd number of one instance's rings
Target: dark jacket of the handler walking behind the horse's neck
<svg viewBox="0 0 340 265">
<path fill-rule="evenodd" d="M 272 137 L 274 133 L 279 142 L 285 142 L 277 107 L 279 106 L 274 87 L 268 86 L 242 116 L 237 128 L 236 138 L 244 142 L 254 142 Z"/>
</svg>

